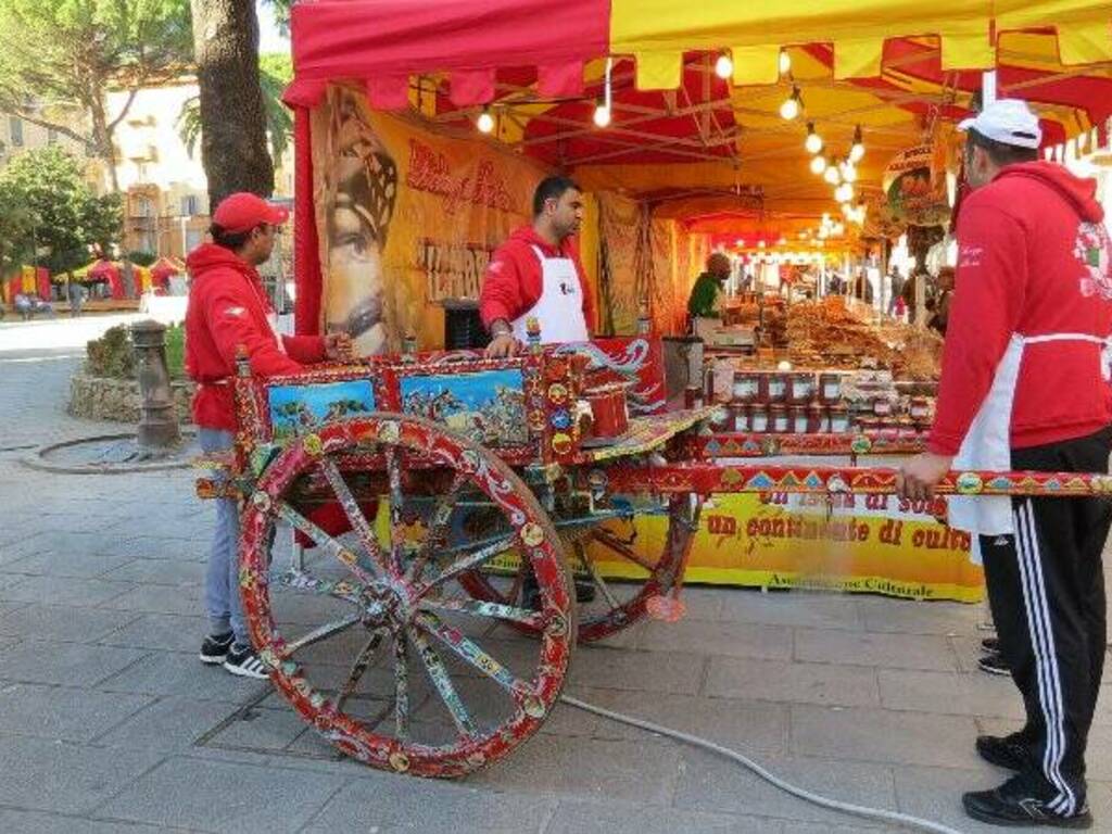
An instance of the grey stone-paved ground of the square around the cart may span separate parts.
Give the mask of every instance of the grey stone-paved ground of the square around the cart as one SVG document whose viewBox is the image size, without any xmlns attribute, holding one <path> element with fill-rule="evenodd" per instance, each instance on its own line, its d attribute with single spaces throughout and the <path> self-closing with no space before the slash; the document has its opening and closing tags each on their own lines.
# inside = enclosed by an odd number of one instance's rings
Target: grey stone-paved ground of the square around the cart
<svg viewBox="0 0 1112 834">
<path fill-rule="evenodd" d="M 331 756 L 268 684 L 196 661 L 211 517 L 191 473 L 18 465 L 11 447 L 103 428 L 62 411 L 88 338 L 67 338 L 66 324 L 0 325 L 0 832 L 887 830 L 567 706 L 461 783 Z M 687 599 L 679 624 L 580 651 L 569 691 L 831 796 L 992 831 L 960 812 L 963 790 L 1003 777 L 972 742 L 1021 713 L 1009 682 L 974 671 L 977 607 L 703 588 Z M 1089 763 L 1098 830 L 1112 831 L 1108 697 Z"/>
</svg>

